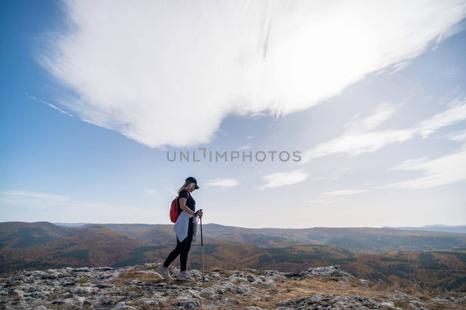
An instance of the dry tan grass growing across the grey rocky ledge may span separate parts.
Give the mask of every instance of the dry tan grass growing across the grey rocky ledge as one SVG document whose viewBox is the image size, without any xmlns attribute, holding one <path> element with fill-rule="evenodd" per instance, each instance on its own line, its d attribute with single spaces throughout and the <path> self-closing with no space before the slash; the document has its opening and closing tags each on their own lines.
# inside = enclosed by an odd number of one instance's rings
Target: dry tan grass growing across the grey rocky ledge
<svg viewBox="0 0 466 310">
<path fill-rule="evenodd" d="M 151 269 L 151 268 L 147 268 Z M 146 283 L 160 283 L 169 282 L 177 285 L 183 285 L 188 287 L 210 287 L 219 282 L 223 281 L 212 281 L 206 282 L 205 285 L 199 282 L 180 283 L 176 280 L 160 279 L 156 275 L 151 273 L 139 273 L 140 270 L 127 270 L 120 274 L 120 277 L 113 279 L 110 283 L 115 284 L 118 287 L 124 286 L 125 283 L 139 279 Z M 215 268 L 210 271 L 217 271 L 223 277 L 229 277 L 233 275 L 233 272 L 229 270 L 223 270 Z M 249 272 L 248 270 L 241 270 L 243 272 Z M 239 282 L 234 283 L 238 286 L 242 284 Z M 274 309 L 275 303 L 282 300 L 291 299 L 295 300 L 298 297 L 307 297 L 313 295 L 332 294 L 340 296 L 365 296 L 375 301 L 382 302 L 383 299 L 389 295 L 398 294 L 403 292 L 407 295 L 418 297 L 425 304 L 425 306 L 431 310 L 443 310 L 443 309 L 463 309 L 466 310 L 466 303 L 461 305 L 455 305 L 453 303 L 437 302 L 432 301 L 433 297 L 448 297 L 451 294 L 441 290 L 423 290 L 418 284 L 413 283 L 411 286 L 400 287 L 399 284 L 387 284 L 382 281 L 370 284 L 363 284 L 358 279 L 350 279 L 348 281 L 341 281 L 336 277 L 312 277 L 305 280 L 279 280 L 276 282 L 276 286 L 268 286 L 266 284 L 254 285 L 257 291 L 254 292 L 253 296 L 237 296 L 227 291 L 222 298 L 232 298 L 239 300 L 240 304 L 229 303 L 224 308 L 219 307 L 216 309 L 228 309 L 228 310 L 242 310 L 247 306 L 258 306 L 262 309 Z M 136 290 L 137 288 L 134 288 Z M 129 290 L 127 290 L 129 291 Z M 127 292 L 125 291 L 125 293 Z M 268 292 L 268 294 L 267 294 Z M 259 300 L 254 300 L 253 297 L 259 296 Z M 176 297 L 176 294 L 170 296 Z M 208 297 L 206 294 L 201 293 L 201 297 Z M 458 297 L 458 296 L 457 296 Z M 133 306 L 140 310 L 158 309 L 168 310 L 173 309 L 179 301 L 169 300 L 163 303 L 159 303 L 158 306 L 154 305 L 141 305 L 134 303 Z M 207 304 L 208 299 L 201 299 L 201 302 Z M 410 309 L 407 300 L 395 301 L 395 305 L 401 309 Z"/>
</svg>

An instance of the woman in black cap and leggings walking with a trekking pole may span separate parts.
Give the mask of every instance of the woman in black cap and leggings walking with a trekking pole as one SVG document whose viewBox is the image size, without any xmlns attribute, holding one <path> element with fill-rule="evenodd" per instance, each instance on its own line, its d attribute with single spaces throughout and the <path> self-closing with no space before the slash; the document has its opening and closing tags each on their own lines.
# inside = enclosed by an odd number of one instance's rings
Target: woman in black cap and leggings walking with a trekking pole
<svg viewBox="0 0 466 310">
<path fill-rule="evenodd" d="M 185 179 L 185 184 L 183 184 L 183 186 L 178 190 L 178 219 L 173 227 L 173 231 L 175 231 L 177 235 L 176 248 L 171 251 L 164 264 L 156 268 L 158 273 L 160 273 L 160 275 L 165 279 L 171 279 L 168 274 L 168 266 L 170 266 L 171 262 L 179 255 L 181 271 L 176 279 L 188 282 L 196 281 L 188 275 L 186 271 L 186 263 L 188 260 L 188 252 L 191 248 L 191 242 L 196 240 L 196 217 L 202 218 L 202 209 L 194 212 L 194 210 L 196 210 L 196 201 L 191 195 L 191 193 L 198 188 L 199 186 L 196 179 L 189 177 Z"/>
</svg>

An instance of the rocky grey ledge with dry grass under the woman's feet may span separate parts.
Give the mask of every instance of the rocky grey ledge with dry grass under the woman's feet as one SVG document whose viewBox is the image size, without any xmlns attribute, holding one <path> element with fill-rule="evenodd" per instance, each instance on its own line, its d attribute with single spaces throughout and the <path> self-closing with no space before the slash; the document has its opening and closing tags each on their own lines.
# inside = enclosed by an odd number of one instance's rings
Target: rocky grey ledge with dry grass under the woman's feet
<svg viewBox="0 0 466 310">
<path fill-rule="evenodd" d="M 196 282 L 165 280 L 159 265 L 17 272 L 0 278 L 0 309 L 466 309 L 466 294 L 407 295 L 339 265 L 301 273 L 214 269 L 205 284 L 199 270 L 188 271 Z"/>
</svg>

